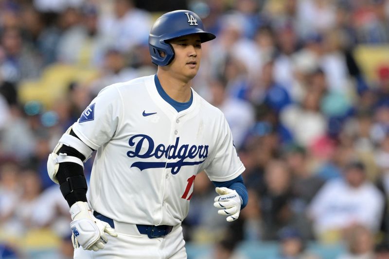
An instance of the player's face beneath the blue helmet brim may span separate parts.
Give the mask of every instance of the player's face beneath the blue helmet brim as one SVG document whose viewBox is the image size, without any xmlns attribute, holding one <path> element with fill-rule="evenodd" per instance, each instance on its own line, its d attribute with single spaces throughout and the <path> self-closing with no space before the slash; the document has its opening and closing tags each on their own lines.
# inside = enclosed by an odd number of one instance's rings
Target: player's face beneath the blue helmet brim
<svg viewBox="0 0 389 259">
<path fill-rule="evenodd" d="M 200 68 L 201 40 L 199 35 L 186 35 L 169 42 L 174 49 L 174 59 L 169 70 L 192 79 Z"/>
</svg>

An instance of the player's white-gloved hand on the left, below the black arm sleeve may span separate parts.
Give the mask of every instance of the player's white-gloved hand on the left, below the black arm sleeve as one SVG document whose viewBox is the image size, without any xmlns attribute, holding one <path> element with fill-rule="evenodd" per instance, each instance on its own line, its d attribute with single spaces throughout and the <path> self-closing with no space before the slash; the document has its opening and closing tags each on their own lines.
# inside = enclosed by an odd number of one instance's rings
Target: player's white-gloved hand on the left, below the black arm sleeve
<svg viewBox="0 0 389 259">
<path fill-rule="evenodd" d="M 73 232 L 71 239 L 75 248 L 80 244 L 84 250 L 98 251 L 105 247 L 108 235 L 118 236 L 108 223 L 93 216 L 86 202 L 73 204 L 70 213 L 72 219 L 70 227 Z"/>
</svg>

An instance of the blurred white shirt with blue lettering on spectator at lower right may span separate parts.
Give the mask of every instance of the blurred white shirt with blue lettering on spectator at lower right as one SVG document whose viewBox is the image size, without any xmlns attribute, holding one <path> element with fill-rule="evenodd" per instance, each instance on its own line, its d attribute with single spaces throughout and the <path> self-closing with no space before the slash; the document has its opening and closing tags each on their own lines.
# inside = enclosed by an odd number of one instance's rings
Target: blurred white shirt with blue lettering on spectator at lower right
<svg viewBox="0 0 389 259">
<path fill-rule="evenodd" d="M 352 224 L 362 224 L 377 230 L 384 206 L 379 190 L 365 182 L 352 188 L 344 180 L 330 180 L 319 190 L 308 212 L 313 218 L 314 230 L 322 234 Z"/>
</svg>

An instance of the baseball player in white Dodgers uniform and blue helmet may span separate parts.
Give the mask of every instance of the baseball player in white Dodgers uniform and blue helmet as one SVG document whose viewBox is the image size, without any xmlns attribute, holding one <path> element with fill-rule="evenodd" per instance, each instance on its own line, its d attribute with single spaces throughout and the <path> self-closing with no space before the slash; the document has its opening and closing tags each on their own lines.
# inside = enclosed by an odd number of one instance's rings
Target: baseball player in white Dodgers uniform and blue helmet
<svg viewBox="0 0 389 259">
<path fill-rule="evenodd" d="M 157 74 L 101 90 L 49 155 L 70 206 L 74 258 L 186 258 L 181 222 L 202 171 L 227 221 L 246 206 L 228 123 L 191 88 L 201 44 L 214 38 L 191 11 L 159 17 L 149 35 Z M 83 163 L 93 150 L 87 199 Z"/>
</svg>

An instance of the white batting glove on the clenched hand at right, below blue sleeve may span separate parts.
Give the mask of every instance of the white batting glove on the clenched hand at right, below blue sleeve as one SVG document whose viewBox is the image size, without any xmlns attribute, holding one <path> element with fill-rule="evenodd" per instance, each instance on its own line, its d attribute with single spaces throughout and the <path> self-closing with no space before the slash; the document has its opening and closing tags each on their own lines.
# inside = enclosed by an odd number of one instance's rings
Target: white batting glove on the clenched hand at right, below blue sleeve
<svg viewBox="0 0 389 259">
<path fill-rule="evenodd" d="M 242 199 L 236 190 L 231 190 L 226 187 L 216 187 L 216 192 L 219 196 L 215 197 L 213 206 L 219 209 L 217 211 L 220 215 L 229 215 L 227 221 L 231 222 L 237 220 L 242 206 Z"/>
</svg>

